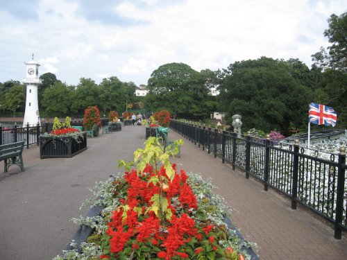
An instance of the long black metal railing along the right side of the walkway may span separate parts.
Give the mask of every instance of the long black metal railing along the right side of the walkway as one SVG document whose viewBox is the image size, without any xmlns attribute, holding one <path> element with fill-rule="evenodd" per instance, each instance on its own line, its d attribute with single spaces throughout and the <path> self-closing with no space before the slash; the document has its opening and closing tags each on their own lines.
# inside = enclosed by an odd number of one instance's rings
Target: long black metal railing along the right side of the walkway
<svg viewBox="0 0 347 260">
<path fill-rule="evenodd" d="M 170 127 L 183 137 L 252 175 L 335 225 L 335 238 L 347 231 L 346 153 L 331 154 L 282 144 L 268 139 L 237 138 L 236 133 L 171 120 Z M 319 153 L 325 155 L 319 157 Z M 328 158 L 327 158 L 328 157 Z"/>
</svg>

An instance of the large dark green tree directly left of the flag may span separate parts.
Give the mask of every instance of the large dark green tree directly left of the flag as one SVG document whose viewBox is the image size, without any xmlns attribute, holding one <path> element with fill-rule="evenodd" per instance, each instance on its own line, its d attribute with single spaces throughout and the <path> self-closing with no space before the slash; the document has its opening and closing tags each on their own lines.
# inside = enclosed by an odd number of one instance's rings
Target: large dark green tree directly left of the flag
<svg viewBox="0 0 347 260">
<path fill-rule="evenodd" d="M 223 72 L 219 94 L 227 121 L 242 116 L 242 128 L 288 134 L 307 122 L 310 87 L 289 73 L 289 64 L 262 57 L 230 64 Z"/>
</svg>

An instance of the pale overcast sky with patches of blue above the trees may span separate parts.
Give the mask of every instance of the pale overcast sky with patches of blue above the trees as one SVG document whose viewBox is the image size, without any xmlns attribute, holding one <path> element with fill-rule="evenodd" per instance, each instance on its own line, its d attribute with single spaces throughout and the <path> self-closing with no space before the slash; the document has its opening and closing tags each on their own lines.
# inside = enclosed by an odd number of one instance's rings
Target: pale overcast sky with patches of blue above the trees
<svg viewBox="0 0 347 260">
<path fill-rule="evenodd" d="M 40 63 L 69 85 L 117 76 L 145 84 L 162 64 L 196 71 L 298 58 L 328 46 L 327 19 L 346 0 L 0 0 L 0 82 Z"/>
</svg>

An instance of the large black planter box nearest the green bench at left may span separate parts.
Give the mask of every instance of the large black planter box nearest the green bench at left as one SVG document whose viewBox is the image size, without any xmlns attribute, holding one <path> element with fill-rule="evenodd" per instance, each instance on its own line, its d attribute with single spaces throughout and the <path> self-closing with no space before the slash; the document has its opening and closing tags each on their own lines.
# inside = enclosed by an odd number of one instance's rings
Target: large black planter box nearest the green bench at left
<svg viewBox="0 0 347 260">
<path fill-rule="evenodd" d="M 78 143 L 72 137 L 40 137 L 40 158 L 71 158 L 87 149 L 87 135 Z"/>
</svg>

